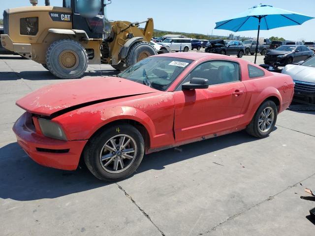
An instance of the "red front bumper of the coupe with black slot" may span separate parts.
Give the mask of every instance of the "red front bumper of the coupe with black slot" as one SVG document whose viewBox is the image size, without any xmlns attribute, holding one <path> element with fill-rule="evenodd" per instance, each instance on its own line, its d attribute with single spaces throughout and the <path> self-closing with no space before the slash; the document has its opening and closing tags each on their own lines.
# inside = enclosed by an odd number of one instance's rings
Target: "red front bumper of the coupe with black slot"
<svg viewBox="0 0 315 236">
<path fill-rule="evenodd" d="M 32 114 L 26 112 L 15 122 L 18 144 L 38 164 L 62 170 L 75 170 L 87 140 L 63 141 L 36 132 Z"/>
</svg>

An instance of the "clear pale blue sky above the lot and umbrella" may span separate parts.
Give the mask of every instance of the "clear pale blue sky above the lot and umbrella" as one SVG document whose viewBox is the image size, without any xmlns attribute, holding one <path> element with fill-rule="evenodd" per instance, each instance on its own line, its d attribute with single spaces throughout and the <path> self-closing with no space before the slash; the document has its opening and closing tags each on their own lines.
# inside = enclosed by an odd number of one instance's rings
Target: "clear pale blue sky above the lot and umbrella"
<svg viewBox="0 0 315 236">
<path fill-rule="evenodd" d="M 38 0 L 44 5 L 45 0 Z M 1 0 L 0 11 L 31 5 L 29 0 Z M 61 6 L 62 0 L 50 0 Z M 255 37 L 257 31 L 232 32 L 214 29 L 215 23 L 233 18 L 259 3 L 315 17 L 315 0 L 112 0 L 107 6 L 109 20 L 143 21 L 154 19 L 154 28 L 166 31 Z M 315 19 L 301 26 L 260 31 L 260 37 L 278 36 L 286 40 L 315 41 Z"/>
</svg>

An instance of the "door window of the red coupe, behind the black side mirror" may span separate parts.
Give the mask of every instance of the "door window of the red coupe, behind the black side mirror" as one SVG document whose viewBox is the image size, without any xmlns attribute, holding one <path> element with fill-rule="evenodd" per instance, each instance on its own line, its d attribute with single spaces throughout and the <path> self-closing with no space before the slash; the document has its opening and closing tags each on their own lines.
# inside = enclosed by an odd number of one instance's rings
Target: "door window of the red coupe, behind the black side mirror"
<svg viewBox="0 0 315 236">
<path fill-rule="evenodd" d="M 192 78 L 207 79 L 209 86 L 240 81 L 239 64 L 232 61 L 207 61 L 194 68 L 182 84 Z M 177 90 L 181 90 L 181 86 Z"/>
</svg>

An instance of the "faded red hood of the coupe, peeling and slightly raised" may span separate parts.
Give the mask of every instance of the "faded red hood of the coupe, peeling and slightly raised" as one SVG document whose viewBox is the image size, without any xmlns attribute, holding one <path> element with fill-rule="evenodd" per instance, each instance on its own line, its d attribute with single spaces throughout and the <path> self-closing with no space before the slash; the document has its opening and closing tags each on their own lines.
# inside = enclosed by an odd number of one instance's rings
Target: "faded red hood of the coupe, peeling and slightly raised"
<svg viewBox="0 0 315 236">
<path fill-rule="evenodd" d="M 93 77 L 43 87 L 19 99 L 16 105 L 30 113 L 50 116 L 80 104 L 157 91 L 119 77 Z"/>
</svg>

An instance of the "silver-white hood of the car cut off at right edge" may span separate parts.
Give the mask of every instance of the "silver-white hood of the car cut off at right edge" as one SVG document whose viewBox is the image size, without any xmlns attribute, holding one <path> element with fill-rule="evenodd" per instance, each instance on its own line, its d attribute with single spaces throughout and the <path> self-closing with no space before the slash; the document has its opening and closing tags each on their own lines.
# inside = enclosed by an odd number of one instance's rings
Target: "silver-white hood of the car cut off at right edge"
<svg viewBox="0 0 315 236">
<path fill-rule="evenodd" d="M 315 83 L 315 67 L 289 64 L 282 73 L 291 76 L 293 80 Z"/>
</svg>

